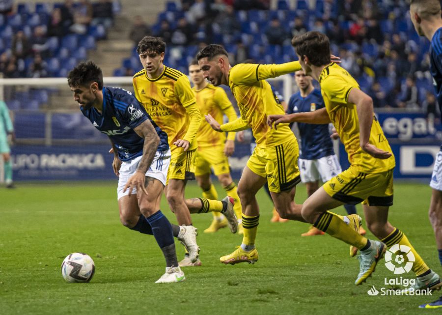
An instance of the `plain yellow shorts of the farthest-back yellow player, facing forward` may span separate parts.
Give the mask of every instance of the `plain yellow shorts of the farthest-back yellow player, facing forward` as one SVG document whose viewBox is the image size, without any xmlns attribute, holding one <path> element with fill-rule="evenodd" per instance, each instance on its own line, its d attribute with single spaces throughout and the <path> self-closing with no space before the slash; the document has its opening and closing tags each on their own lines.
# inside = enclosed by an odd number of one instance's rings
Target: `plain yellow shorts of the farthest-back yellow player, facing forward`
<svg viewBox="0 0 442 315">
<path fill-rule="evenodd" d="M 196 150 L 196 170 L 195 175 L 200 176 L 210 174 L 211 169 L 215 175 L 226 174 L 230 172 L 229 161 L 224 155 L 224 145 L 217 145 L 209 148 L 198 147 Z"/>
</svg>

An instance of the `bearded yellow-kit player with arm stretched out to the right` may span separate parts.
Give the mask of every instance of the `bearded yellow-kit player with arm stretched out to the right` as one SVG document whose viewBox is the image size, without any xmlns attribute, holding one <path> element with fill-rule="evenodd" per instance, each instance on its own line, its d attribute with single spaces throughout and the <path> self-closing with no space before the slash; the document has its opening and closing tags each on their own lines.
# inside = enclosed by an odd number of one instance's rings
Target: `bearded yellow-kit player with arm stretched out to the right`
<svg viewBox="0 0 442 315">
<path fill-rule="evenodd" d="M 259 223 L 259 207 L 256 193 L 267 181 L 276 210 L 282 218 L 303 221 L 302 205 L 294 202 L 296 184 L 300 182 L 298 170 L 298 143 L 288 126 L 271 129 L 267 116 L 283 115 L 284 110 L 276 102 L 268 78 L 300 70 L 299 62 L 281 65 L 237 64 L 230 66 L 227 52 L 220 45 L 208 45 L 197 55 L 204 77 L 214 86 L 228 85 L 241 112 L 238 119 L 220 125 L 210 114 L 207 122 L 219 132 L 252 129 L 256 148 L 238 183 L 238 195 L 242 205 L 243 242 L 232 254 L 221 257 L 221 262 L 238 263 L 258 260 L 255 249 Z"/>
</svg>

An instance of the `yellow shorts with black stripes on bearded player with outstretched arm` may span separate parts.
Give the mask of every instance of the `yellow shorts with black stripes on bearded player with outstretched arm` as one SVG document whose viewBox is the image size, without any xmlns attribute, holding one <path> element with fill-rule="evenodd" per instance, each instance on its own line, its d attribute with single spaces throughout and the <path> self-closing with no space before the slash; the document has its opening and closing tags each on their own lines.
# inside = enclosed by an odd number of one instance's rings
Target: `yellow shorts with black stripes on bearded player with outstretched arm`
<svg viewBox="0 0 442 315">
<path fill-rule="evenodd" d="M 269 190 L 274 193 L 292 189 L 300 181 L 299 148 L 296 138 L 277 146 L 257 146 L 247 161 L 247 167 L 261 177 L 267 177 Z"/>
</svg>

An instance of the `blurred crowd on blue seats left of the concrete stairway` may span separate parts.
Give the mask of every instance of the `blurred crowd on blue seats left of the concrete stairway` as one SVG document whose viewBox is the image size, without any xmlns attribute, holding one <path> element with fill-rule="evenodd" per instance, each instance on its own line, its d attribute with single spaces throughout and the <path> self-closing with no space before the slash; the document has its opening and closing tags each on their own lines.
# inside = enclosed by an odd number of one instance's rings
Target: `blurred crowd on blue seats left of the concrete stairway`
<svg viewBox="0 0 442 315">
<path fill-rule="evenodd" d="M 8 1 L 5 1 L 8 2 Z M 4 78 L 62 77 L 113 23 L 110 0 L 65 0 L 0 7 L 0 72 Z"/>
</svg>

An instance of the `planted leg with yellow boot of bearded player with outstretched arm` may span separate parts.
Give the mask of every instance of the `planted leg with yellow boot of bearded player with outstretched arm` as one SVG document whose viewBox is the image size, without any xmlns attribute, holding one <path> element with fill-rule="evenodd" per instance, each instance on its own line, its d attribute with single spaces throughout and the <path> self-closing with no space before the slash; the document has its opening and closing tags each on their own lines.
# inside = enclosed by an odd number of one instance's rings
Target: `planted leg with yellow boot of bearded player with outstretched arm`
<svg viewBox="0 0 442 315">
<path fill-rule="evenodd" d="M 249 167 L 245 167 L 238 183 L 238 196 L 243 209 L 243 241 L 241 246 L 233 253 L 220 258 L 222 263 L 254 263 L 258 260 L 258 252 L 255 249 L 255 238 L 259 224 L 259 206 L 255 195 L 266 180 L 265 177 L 252 172 Z"/>
</svg>

